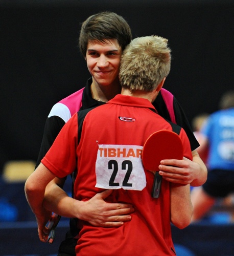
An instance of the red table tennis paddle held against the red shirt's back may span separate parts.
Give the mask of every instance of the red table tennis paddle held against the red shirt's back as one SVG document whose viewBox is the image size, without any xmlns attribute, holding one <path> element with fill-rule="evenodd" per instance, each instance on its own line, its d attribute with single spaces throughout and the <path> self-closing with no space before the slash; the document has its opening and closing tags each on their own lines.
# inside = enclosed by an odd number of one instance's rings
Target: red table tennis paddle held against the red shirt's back
<svg viewBox="0 0 234 256">
<path fill-rule="evenodd" d="M 158 174 L 158 165 L 163 159 L 183 159 L 182 141 L 178 134 L 169 130 L 160 130 L 151 134 L 143 147 L 143 165 L 155 174 L 153 198 L 159 197 L 162 177 Z"/>
</svg>

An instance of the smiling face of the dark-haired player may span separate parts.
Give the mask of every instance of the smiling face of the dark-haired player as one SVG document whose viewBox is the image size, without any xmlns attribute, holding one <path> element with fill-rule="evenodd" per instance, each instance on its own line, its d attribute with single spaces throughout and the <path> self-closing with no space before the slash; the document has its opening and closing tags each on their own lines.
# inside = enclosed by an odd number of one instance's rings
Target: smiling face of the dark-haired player
<svg viewBox="0 0 234 256">
<path fill-rule="evenodd" d="M 122 49 L 116 39 L 89 41 L 86 52 L 88 71 L 99 87 L 119 83 Z"/>
</svg>

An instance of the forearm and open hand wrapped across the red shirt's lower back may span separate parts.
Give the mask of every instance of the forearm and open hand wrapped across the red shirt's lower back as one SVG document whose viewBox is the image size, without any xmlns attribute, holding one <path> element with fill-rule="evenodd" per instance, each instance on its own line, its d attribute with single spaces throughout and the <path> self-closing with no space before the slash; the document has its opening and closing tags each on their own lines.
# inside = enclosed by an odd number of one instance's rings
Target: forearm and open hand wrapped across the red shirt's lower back
<svg viewBox="0 0 234 256">
<path fill-rule="evenodd" d="M 46 187 L 44 207 L 60 216 L 88 221 L 93 226 L 119 227 L 131 220 L 130 214 L 134 208 L 128 203 L 105 202 L 111 193 L 112 190 L 107 189 L 88 201 L 79 201 L 68 197 L 60 187 L 51 183 Z"/>
</svg>

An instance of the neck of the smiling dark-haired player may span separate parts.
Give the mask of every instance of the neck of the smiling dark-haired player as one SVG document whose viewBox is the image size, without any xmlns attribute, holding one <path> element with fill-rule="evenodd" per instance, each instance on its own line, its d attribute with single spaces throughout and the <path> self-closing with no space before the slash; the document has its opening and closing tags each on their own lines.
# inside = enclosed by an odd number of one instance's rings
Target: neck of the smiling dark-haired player
<svg viewBox="0 0 234 256">
<path fill-rule="evenodd" d="M 118 83 L 111 83 L 108 86 L 100 86 L 100 84 L 97 84 L 92 81 L 91 84 L 91 93 L 92 98 L 107 102 L 110 99 L 112 99 L 115 95 L 120 94 L 121 87 L 119 82 Z"/>
</svg>

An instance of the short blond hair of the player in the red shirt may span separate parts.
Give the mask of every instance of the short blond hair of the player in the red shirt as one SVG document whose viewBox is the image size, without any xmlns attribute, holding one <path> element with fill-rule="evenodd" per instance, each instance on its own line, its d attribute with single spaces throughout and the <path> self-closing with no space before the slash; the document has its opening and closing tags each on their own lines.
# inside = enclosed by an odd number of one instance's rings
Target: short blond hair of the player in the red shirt
<svg viewBox="0 0 234 256">
<path fill-rule="evenodd" d="M 168 39 L 144 36 L 133 39 L 121 58 L 120 83 L 131 91 L 153 91 L 171 68 Z"/>
</svg>

